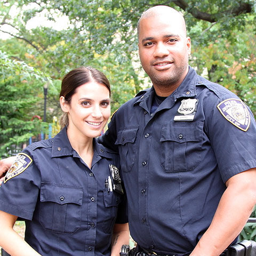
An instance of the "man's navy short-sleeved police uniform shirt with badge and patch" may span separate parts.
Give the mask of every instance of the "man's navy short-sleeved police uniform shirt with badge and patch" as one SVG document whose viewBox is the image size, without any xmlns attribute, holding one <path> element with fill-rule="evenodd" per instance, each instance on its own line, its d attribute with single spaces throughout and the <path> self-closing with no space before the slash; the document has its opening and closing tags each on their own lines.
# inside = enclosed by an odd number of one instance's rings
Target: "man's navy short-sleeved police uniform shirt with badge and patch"
<svg viewBox="0 0 256 256">
<path fill-rule="evenodd" d="M 152 87 L 121 106 L 102 142 L 119 150 L 135 242 L 187 253 L 210 226 L 225 182 L 256 167 L 255 119 L 234 93 L 191 67 L 150 113 L 154 98 Z"/>
</svg>

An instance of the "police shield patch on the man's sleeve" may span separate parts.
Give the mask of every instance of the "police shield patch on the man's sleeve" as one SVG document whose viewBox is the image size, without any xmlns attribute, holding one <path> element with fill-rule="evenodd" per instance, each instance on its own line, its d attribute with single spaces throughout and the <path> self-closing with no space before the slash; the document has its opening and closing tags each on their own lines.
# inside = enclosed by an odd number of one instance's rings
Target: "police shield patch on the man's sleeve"
<svg viewBox="0 0 256 256">
<path fill-rule="evenodd" d="M 240 99 L 227 99 L 219 103 L 217 108 L 231 124 L 246 132 L 251 123 L 251 117 L 244 102 Z"/>
</svg>

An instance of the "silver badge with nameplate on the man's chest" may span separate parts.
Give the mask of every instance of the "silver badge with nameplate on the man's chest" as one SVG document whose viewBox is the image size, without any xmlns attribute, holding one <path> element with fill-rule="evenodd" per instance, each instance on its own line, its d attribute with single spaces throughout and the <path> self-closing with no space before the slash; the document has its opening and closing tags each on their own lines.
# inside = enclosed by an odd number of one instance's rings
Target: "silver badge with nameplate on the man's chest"
<svg viewBox="0 0 256 256">
<path fill-rule="evenodd" d="M 196 115 L 198 99 L 182 100 L 174 121 L 193 121 Z"/>
</svg>

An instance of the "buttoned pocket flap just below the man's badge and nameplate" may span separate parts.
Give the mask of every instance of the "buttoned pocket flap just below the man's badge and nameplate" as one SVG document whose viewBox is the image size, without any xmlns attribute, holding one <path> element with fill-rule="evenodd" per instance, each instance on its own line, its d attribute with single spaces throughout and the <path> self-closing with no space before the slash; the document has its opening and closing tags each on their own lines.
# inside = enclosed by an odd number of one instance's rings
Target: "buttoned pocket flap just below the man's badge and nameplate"
<svg viewBox="0 0 256 256">
<path fill-rule="evenodd" d="M 160 141 L 171 140 L 182 143 L 188 141 L 201 141 L 202 139 L 203 122 L 169 122 L 162 126 Z"/>
</svg>

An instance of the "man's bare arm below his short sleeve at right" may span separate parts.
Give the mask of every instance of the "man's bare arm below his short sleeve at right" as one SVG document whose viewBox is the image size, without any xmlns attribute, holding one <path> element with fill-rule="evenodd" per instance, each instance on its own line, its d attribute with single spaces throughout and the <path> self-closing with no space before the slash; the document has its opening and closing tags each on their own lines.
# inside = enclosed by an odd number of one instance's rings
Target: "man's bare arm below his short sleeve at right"
<svg viewBox="0 0 256 256">
<path fill-rule="evenodd" d="M 226 182 L 210 227 L 190 256 L 219 256 L 241 233 L 256 203 L 256 168 Z"/>
</svg>

